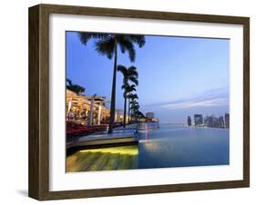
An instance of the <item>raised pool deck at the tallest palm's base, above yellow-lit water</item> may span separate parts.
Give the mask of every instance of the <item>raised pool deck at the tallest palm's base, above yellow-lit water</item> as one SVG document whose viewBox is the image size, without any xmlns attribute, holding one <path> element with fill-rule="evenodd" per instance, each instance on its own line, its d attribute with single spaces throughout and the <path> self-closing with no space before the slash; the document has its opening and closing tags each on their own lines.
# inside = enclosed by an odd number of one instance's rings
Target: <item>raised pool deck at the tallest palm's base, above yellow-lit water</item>
<svg viewBox="0 0 256 205">
<path fill-rule="evenodd" d="M 118 127 L 113 133 L 99 133 L 81 136 L 74 141 L 67 142 L 67 154 L 83 149 L 126 146 L 138 144 L 136 126 Z"/>
</svg>

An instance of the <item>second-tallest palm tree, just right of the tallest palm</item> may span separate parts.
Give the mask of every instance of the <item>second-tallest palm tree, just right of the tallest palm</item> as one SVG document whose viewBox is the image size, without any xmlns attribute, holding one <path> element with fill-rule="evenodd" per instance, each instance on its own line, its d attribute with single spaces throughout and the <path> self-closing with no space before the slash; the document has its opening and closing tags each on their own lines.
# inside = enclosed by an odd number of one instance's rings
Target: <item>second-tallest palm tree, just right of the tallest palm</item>
<svg viewBox="0 0 256 205">
<path fill-rule="evenodd" d="M 123 74 L 123 86 L 124 89 L 124 127 L 126 127 L 126 120 L 127 120 L 127 95 L 133 91 L 136 91 L 136 86 L 138 86 L 138 72 L 135 66 L 125 67 L 124 65 L 118 65 L 118 72 Z M 129 85 L 129 82 L 135 83 Z"/>
</svg>

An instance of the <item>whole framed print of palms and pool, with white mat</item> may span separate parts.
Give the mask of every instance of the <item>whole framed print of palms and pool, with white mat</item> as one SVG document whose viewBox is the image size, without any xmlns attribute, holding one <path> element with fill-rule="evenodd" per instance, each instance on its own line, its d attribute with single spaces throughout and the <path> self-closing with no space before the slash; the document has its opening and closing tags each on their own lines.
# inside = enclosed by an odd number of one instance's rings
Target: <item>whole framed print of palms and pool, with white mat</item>
<svg viewBox="0 0 256 205">
<path fill-rule="evenodd" d="M 29 8 L 29 196 L 250 185 L 250 19 Z"/>
</svg>

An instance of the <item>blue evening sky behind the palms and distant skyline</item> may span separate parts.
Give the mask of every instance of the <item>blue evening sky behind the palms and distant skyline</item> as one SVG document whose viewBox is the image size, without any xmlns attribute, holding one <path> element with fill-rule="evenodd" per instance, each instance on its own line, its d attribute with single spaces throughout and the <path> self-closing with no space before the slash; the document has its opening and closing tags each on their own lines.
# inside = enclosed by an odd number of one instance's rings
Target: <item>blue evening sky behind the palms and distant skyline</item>
<svg viewBox="0 0 256 205">
<path fill-rule="evenodd" d="M 67 32 L 67 78 L 87 95 L 110 101 L 113 59 L 98 55 L 94 40 L 81 44 Z M 229 112 L 230 41 L 146 35 L 136 48 L 136 61 L 118 51 L 118 64 L 138 68 L 138 102 L 142 112 L 155 112 L 160 122 L 186 122 L 188 115 Z M 123 109 L 122 74 L 117 79 L 116 108 Z"/>
</svg>

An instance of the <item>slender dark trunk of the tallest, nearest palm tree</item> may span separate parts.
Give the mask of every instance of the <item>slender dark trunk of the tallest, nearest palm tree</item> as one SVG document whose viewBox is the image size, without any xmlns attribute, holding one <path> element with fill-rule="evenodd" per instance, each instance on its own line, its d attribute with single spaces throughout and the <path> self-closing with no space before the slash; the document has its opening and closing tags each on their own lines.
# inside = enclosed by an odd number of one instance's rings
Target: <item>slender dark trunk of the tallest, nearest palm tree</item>
<svg viewBox="0 0 256 205">
<path fill-rule="evenodd" d="M 117 39 L 115 40 L 115 59 L 114 59 L 114 72 L 113 72 L 113 82 L 112 82 L 112 92 L 111 92 L 111 105 L 110 105 L 110 117 L 109 117 L 109 127 L 108 133 L 113 132 L 113 127 L 115 124 L 115 112 L 116 112 L 116 81 L 117 81 L 117 59 L 118 59 L 118 45 Z"/>
</svg>

